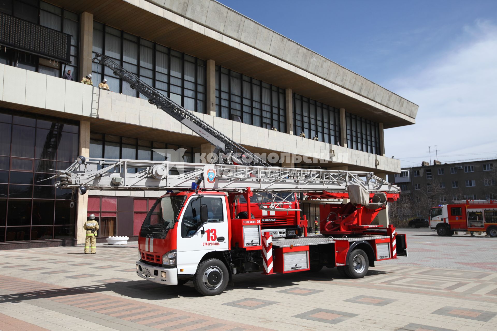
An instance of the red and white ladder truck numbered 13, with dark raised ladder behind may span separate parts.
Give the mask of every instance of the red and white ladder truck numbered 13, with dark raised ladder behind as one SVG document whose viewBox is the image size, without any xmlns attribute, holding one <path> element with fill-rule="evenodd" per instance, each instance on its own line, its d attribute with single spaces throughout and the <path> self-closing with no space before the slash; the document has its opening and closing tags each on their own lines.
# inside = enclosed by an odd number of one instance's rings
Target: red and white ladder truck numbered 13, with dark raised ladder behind
<svg viewBox="0 0 497 331">
<path fill-rule="evenodd" d="M 376 261 L 407 256 L 405 235 L 397 234 L 392 225 L 371 225 L 387 201 L 398 199 L 397 186 L 367 172 L 272 167 L 111 59 L 100 54 L 96 58 L 151 104 L 211 142 L 219 154 L 216 164 L 79 156 L 54 176 L 59 179 L 57 187 L 80 195 L 87 190 L 167 190 L 143 222 L 138 276 L 167 285 L 192 280 L 199 293 L 215 295 L 238 273 L 319 271 L 327 266 L 360 278 Z M 263 224 L 267 215 L 275 216 L 271 222 L 276 222 L 279 212 L 293 212 L 295 223 L 305 229 L 297 193 L 350 201 L 325 215 L 323 235 L 306 236 L 304 231 L 302 237 L 272 241 Z M 242 207 L 242 198 L 256 202 Z"/>
</svg>

